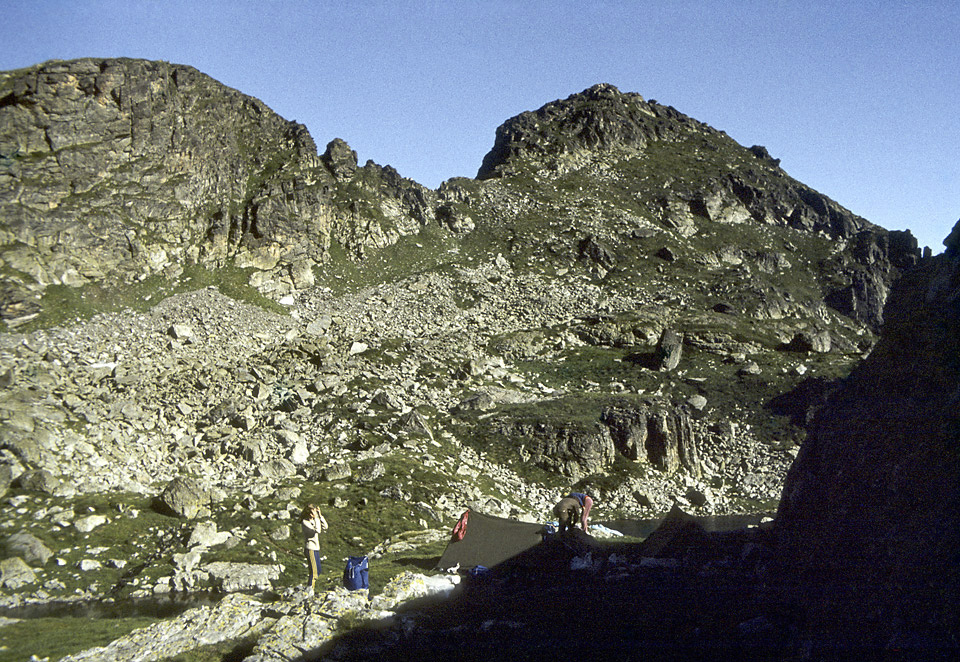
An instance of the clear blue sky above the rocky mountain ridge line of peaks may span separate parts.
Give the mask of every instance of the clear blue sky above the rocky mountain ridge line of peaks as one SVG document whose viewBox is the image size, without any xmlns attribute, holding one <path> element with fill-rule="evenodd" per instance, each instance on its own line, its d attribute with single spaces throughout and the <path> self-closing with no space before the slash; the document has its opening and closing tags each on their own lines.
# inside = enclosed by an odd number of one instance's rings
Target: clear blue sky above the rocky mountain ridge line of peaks
<svg viewBox="0 0 960 662">
<path fill-rule="evenodd" d="M 0 70 L 189 64 L 431 188 L 612 83 L 935 253 L 960 218 L 958 0 L 0 0 L 0 39 Z"/>
</svg>

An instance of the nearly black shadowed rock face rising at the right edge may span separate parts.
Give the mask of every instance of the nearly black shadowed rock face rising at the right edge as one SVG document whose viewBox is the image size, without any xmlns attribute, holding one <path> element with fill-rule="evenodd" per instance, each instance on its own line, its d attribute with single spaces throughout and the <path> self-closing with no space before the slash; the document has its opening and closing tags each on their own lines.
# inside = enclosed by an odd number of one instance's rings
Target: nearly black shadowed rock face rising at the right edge
<svg viewBox="0 0 960 662">
<path fill-rule="evenodd" d="M 892 636 L 883 630 L 898 622 L 955 633 L 960 260 L 953 248 L 906 273 L 885 319 L 879 343 L 820 410 L 789 473 L 780 549 L 823 619 L 846 611 L 878 637 Z M 859 589 L 840 597 L 831 584 Z"/>
</svg>

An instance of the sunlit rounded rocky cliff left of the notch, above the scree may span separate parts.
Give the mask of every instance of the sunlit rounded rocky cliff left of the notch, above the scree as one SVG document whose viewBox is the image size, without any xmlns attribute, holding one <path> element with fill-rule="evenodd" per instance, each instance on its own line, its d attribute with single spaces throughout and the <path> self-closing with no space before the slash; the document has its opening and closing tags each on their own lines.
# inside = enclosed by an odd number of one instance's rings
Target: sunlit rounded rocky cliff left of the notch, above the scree
<svg viewBox="0 0 960 662">
<path fill-rule="evenodd" d="M 304 126 L 191 67 L 88 59 L 0 78 L 4 319 L 49 284 L 228 257 L 302 288 L 331 241 L 390 244 L 432 218 L 430 199 L 342 141 L 318 155 Z"/>
</svg>

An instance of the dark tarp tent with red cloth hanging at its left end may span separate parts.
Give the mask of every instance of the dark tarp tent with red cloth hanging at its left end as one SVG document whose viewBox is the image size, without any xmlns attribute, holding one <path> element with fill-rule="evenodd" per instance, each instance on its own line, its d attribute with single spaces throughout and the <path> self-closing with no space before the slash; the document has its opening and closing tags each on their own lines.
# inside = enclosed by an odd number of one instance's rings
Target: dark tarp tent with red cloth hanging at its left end
<svg viewBox="0 0 960 662">
<path fill-rule="evenodd" d="M 458 523 L 453 539 L 437 563 L 438 568 L 447 570 L 458 564 L 461 570 L 478 565 L 492 568 L 539 544 L 546 530 L 543 524 L 493 517 L 475 510 L 468 510 L 464 516 L 466 526 L 462 529 L 463 535 L 458 539 Z"/>
</svg>

